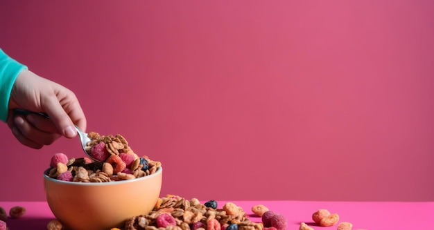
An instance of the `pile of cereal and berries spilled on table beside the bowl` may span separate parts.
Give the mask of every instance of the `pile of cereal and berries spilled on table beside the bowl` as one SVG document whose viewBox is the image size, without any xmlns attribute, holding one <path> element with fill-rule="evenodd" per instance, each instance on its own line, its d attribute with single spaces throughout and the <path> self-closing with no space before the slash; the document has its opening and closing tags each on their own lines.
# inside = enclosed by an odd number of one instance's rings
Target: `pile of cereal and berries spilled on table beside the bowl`
<svg viewBox="0 0 434 230">
<path fill-rule="evenodd" d="M 252 207 L 252 210 L 256 208 Z M 261 208 L 266 209 L 262 205 Z M 271 211 L 268 212 L 272 213 Z M 128 219 L 125 222 L 123 230 L 286 229 L 286 218 L 283 215 L 274 214 L 275 217 L 272 218 L 272 223 L 257 223 L 249 220 L 243 208 L 232 202 L 226 202 L 222 208 L 218 209 L 218 204 L 215 200 L 201 204 L 196 198 L 186 200 L 178 195 L 166 195 L 163 198 L 159 198 L 153 211 L 148 215 L 137 215 Z M 263 218 L 263 220 L 266 219 Z"/>
</svg>

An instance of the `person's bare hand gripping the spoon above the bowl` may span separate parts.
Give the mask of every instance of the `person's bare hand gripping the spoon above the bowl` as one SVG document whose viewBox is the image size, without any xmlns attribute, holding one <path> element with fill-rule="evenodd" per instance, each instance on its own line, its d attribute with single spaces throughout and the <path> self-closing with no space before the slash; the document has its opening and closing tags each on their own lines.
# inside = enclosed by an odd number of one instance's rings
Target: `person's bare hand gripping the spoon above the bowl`
<svg viewBox="0 0 434 230">
<path fill-rule="evenodd" d="M 36 114 L 14 116 L 14 108 L 46 113 L 50 119 Z M 22 70 L 12 86 L 7 123 L 17 140 L 31 148 L 42 148 L 62 136 L 76 137 L 74 124 L 86 130 L 86 117 L 76 95 L 30 70 Z"/>
</svg>

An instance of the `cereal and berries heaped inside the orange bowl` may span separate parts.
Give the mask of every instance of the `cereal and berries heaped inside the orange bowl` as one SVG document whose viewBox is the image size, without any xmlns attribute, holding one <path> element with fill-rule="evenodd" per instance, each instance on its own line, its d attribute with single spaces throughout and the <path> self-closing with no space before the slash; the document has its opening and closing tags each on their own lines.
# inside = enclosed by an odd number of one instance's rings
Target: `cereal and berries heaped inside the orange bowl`
<svg viewBox="0 0 434 230">
<path fill-rule="evenodd" d="M 90 132 L 85 150 L 98 160 L 88 157 L 69 158 L 64 153 L 51 157 L 50 178 L 70 182 L 111 182 L 132 180 L 153 174 L 162 165 L 146 155 L 139 157 L 121 135 L 99 135 Z M 102 163 L 101 163 L 102 162 Z"/>
</svg>

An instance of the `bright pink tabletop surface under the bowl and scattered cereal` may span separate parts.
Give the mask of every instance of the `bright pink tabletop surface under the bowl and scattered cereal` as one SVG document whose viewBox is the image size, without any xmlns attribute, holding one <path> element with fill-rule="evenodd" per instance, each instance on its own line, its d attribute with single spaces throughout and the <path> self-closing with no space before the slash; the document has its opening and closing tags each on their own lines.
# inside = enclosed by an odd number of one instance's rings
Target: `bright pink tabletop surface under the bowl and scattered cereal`
<svg viewBox="0 0 434 230">
<path fill-rule="evenodd" d="M 222 207 L 227 201 L 218 201 Z M 253 215 L 251 208 L 263 204 L 270 210 L 288 218 L 286 229 L 297 230 L 301 222 L 306 222 L 314 229 L 336 229 L 318 227 L 313 224 L 311 215 L 318 209 L 329 209 L 340 215 L 340 222 L 351 222 L 353 229 L 369 230 L 409 230 L 434 229 L 434 202 L 316 202 L 316 201 L 231 201 L 242 207 L 250 220 L 260 222 L 261 218 Z M 0 202 L 0 207 L 7 211 L 16 205 L 26 207 L 26 215 L 17 219 L 8 219 L 10 230 L 45 230 L 46 224 L 53 220 L 46 202 Z"/>
</svg>

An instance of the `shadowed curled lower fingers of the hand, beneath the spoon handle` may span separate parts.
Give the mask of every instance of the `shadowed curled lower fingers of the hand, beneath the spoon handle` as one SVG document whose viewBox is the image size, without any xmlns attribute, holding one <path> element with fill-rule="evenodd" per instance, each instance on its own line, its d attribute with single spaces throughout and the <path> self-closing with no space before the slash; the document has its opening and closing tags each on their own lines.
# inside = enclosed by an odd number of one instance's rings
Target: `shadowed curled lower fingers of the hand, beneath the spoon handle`
<svg viewBox="0 0 434 230">
<path fill-rule="evenodd" d="M 37 115 L 28 115 L 27 117 L 29 118 L 35 117 L 40 119 L 42 118 L 42 117 L 37 117 Z M 25 146 L 31 148 L 40 149 L 44 145 L 52 144 L 55 140 L 58 140 L 58 138 L 60 137 L 60 135 L 57 133 L 41 131 L 40 129 L 33 126 L 31 122 L 28 122 L 28 120 L 21 115 L 13 118 L 13 124 L 11 123 L 8 124 L 10 124 L 10 129 L 12 131 L 12 134 L 15 136 L 15 138 L 17 138 L 17 140 L 21 144 L 24 144 Z"/>
</svg>

